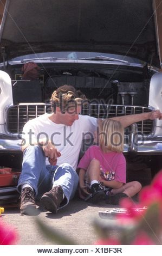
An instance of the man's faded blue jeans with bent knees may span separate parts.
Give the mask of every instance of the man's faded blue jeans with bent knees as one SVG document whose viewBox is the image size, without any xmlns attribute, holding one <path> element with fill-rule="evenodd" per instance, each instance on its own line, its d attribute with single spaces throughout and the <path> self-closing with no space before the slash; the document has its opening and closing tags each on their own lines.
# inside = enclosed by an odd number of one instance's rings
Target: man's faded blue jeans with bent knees
<svg viewBox="0 0 162 256">
<path fill-rule="evenodd" d="M 40 199 L 51 188 L 60 185 L 63 189 L 64 207 L 74 197 L 79 177 L 68 163 L 60 166 L 46 165 L 44 151 L 38 146 L 29 146 L 24 150 L 22 172 L 18 180 L 17 191 L 21 193 L 21 186 L 29 184 L 35 190 L 35 198 Z"/>
</svg>

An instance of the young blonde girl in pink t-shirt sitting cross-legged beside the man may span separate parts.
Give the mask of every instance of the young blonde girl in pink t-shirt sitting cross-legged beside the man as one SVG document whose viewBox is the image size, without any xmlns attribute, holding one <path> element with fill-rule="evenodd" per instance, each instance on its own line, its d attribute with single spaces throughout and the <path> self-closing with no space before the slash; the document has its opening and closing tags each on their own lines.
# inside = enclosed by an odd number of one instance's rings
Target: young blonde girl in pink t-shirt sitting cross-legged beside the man
<svg viewBox="0 0 162 256">
<path fill-rule="evenodd" d="M 133 197 L 141 190 L 138 181 L 126 183 L 124 128 L 119 121 L 98 119 L 94 142 L 79 162 L 80 197 L 92 197 L 97 203 L 119 205 L 122 197 Z M 107 196 L 106 196 L 107 195 Z"/>
</svg>

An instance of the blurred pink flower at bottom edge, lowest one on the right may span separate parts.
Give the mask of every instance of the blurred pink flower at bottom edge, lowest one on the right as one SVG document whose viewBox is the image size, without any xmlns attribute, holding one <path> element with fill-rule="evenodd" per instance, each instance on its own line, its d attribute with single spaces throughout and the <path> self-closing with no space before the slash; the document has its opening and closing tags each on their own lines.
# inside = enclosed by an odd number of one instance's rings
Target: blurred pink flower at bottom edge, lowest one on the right
<svg viewBox="0 0 162 256">
<path fill-rule="evenodd" d="M 155 245 L 155 243 L 144 231 L 140 231 L 131 245 Z"/>
</svg>

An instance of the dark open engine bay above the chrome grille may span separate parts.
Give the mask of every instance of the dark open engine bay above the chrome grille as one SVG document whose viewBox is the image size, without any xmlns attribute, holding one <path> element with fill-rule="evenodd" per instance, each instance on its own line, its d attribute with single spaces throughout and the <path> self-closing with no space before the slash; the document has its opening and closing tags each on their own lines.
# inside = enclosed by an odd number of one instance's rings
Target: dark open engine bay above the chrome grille
<svg viewBox="0 0 162 256">
<path fill-rule="evenodd" d="M 14 69 L 13 69 L 14 67 Z M 8 68 L 12 80 L 14 104 L 20 102 L 48 102 L 51 94 L 60 86 L 68 84 L 81 90 L 88 100 L 105 104 L 148 106 L 150 77 L 145 69 L 132 66 L 57 64 L 40 66 L 38 80 L 22 80 L 22 66 Z M 39 85 L 38 85 L 39 84 Z M 33 92 L 32 92 L 32 90 Z M 15 92 L 14 92 L 15 91 Z M 34 94 L 33 94 L 34 93 Z M 23 97 L 24 94 L 24 97 Z M 31 97 L 40 95 L 37 99 Z M 23 99 L 24 98 L 24 99 Z"/>
</svg>

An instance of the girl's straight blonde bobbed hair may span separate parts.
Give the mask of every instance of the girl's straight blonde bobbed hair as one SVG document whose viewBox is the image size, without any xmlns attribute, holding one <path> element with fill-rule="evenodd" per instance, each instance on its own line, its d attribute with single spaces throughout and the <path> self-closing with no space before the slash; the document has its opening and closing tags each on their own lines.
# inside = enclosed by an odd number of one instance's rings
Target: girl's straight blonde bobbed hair
<svg viewBox="0 0 162 256">
<path fill-rule="evenodd" d="M 124 128 L 119 121 L 99 118 L 98 127 L 99 144 L 117 153 L 124 151 Z"/>
</svg>

